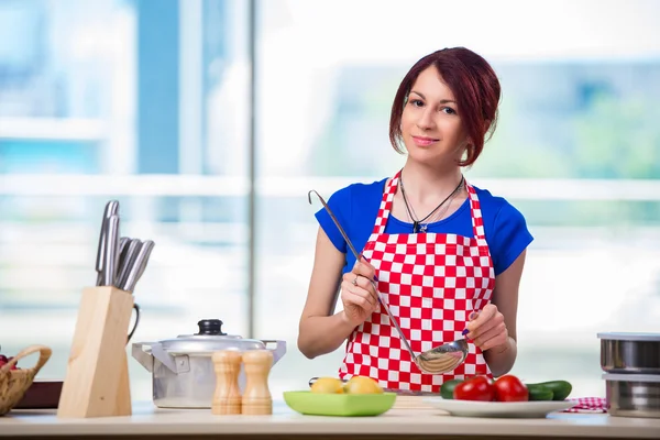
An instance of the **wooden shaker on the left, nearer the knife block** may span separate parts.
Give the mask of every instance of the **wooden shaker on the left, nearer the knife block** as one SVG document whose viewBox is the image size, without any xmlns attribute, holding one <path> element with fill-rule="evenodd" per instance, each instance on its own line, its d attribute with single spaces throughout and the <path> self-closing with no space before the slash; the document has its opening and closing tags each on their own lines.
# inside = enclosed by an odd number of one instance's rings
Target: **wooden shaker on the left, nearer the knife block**
<svg viewBox="0 0 660 440">
<path fill-rule="evenodd" d="M 216 391 L 211 414 L 241 414 L 241 389 L 239 388 L 241 352 L 217 351 L 212 354 L 211 360 L 216 371 Z"/>
</svg>

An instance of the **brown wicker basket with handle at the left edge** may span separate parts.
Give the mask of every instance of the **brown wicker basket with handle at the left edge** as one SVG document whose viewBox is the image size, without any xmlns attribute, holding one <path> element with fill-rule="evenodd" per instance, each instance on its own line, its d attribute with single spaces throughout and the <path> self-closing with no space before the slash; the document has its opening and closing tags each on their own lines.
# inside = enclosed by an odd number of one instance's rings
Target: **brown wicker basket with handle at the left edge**
<svg viewBox="0 0 660 440">
<path fill-rule="evenodd" d="M 40 352 L 40 356 L 32 369 L 10 370 L 22 358 L 35 352 Z M 23 398 L 36 373 L 51 358 L 51 349 L 45 345 L 30 345 L 0 367 L 0 416 L 9 413 Z"/>
</svg>

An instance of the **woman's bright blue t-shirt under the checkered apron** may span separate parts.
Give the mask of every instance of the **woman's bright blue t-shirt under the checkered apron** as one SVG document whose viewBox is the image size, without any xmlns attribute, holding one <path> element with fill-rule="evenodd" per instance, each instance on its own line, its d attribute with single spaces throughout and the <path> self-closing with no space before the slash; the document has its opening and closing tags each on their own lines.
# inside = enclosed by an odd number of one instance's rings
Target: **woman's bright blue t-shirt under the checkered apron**
<svg viewBox="0 0 660 440">
<path fill-rule="evenodd" d="M 373 232 L 386 182 L 387 178 L 372 184 L 352 184 L 339 189 L 327 201 L 358 253 L 362 252 Z M 513 205 L 502 197 L 493 196 L 485 189 L 477 187 L 474 189 L 481 204 L 484 232 L 493 258 L 495 275 L 499 275 L 512 265 L 534 238 L 527 229 L 525 217 Z M 324 208 L 321 208 L 317 211 L 316 218 L 334 246 L 346 254 L 342 273 L 350 272 L 355 264 L 355 256 L 330 215 Z M 465 199 L 463 205 L 450 217 L 429 223 L 427 232 L 453 233 L 473 238 L 470 199 Z M 413 233 L 413 223 L 396 219 L 389 213 L 385 233 Z"/>
</svg>

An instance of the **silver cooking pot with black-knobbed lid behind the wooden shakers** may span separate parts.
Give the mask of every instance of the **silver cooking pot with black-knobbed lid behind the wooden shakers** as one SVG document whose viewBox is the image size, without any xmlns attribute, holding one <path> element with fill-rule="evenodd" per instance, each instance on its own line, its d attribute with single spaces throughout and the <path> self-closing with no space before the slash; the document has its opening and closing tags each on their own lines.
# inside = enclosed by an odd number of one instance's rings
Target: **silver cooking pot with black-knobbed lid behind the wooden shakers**
<svg viewBox="0 0 660 440">
<path fill-rule="evenodd" d="M 160 408 L 210 408 L 216 391 L 211 355 L 220 350 L 272 350 L 273 365 L 286 353 L 286 341 L 243 339 L 222 332 L 219 319 L 197 322 L 199 332 L 158 342 L 135 342 L 132 355 L 152 373 L 153 399 Z M 239 387 L 245 373 L 241 364 Z"/>
</svg>

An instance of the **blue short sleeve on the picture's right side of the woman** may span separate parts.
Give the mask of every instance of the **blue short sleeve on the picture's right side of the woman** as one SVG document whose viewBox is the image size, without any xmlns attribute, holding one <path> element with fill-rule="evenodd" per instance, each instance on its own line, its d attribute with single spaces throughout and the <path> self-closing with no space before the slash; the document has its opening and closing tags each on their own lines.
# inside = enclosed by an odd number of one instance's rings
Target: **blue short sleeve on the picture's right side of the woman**
<svg viewBox="0 0 660 440">
<path fill-rule="evenodd" d="M 522 213 L 506 201 L 495 217 L 493 231 L 494 245 L 491 246 L 491 256 L 495 275 L 499 275 L 527 249 L 534 237 L 527 229 Z"/>
</svg>

